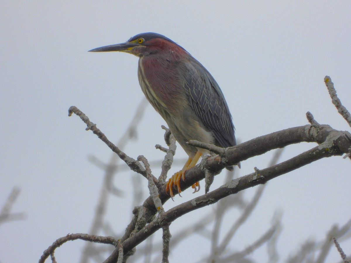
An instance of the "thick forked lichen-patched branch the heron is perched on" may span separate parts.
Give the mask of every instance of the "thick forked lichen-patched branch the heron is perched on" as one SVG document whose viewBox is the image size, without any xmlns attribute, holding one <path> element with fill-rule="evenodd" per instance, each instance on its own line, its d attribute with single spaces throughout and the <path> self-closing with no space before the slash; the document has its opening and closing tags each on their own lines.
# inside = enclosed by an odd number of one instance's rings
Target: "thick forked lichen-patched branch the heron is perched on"
<svg viewBox="0 0 351 263">
<path fill-rule="evenodd" d="M 148 236 L 152 235 L 155 231 L 161 228 L 163 225 L 161 222 L 163 221 L 172 222 L 178 217 L 189 213 L 190 211 L 196 210 L 209 204 L 213 204 L 225 196 L 237 193 L 238 191 L 256 186 L 258 184 L 265 183 L 279 175 L 288 173 L 289 171 L 292 171 L 324 157 L 341 155 L 342 153 L 345 153 L 345 151 L 351 145 L 349 138 L 351 138 L 351 135 L 349 133 L 333 130 L 330 126 L 321 125 L 318 129 L 316 129 L 312 125 L 306 125 L 302 127 L 277 131 L 269 135 L 260 136 L 248 142 L 241 143 L 237 146 L 227 148 L 226 163 L 223 163 L 218 155 L 211 156 L 208 159 L 201 161 L 201 163 L 196 167 L 187 170 L 185 173 L 185 182 L 181 181 L 182 189 L 186 189 L 193 183 L 203 179 L 205 177 L 205 168 L 214 171 L 220 170 L 225 166 L 230 166 L 239 161 L 246 160 L 252 156 L 263 154 L 266 151 L 274 148 L 282 148 L 291 143 L 302 141 L 313 141 L 320 143 L 319 146 L 314 147 L 302 154 L 299 154 L 298 156 L 293 157 L 287 161 L 269 168 L 259 170 L 258 173 L 252 173 L 232 180 L 206 195 L 194 198 L 191 201 L 178 205 L 159 215 L 157 220 L 152 221 L 148 225 L 144 223 L 146 221 L 149 221 L 157 210 L 154 208 L 152 198 L 147 198 L 142 206 L 144 209 L 139 208 L 139 211 L 142 211 L 142 214 L 140 215 L 138 213 L 138 215 L 134 215 L 132 220 L 133 222 L 139 217 L 143 218 L 144 226 L 143 224 L 138 224 L 138 227 L 136 227 L 132 223 L 128 225 L 124 236 L 121 238 L 124 251 L 129 251 L 137 244 L 145 240 Z M 160 192 L 161 202 L 164 203 L 169 198 L 170 196 L 165 193 L 165 187 L 163 187 L 162 191 Z M 132 232 L 130 231 L 133 232 L 133 236 L 131 236 Z M 117 256 L 118 251 L 115 250 L 114 253 L 110 255 L 110 257 L 106 259 L 105 262 L 113 262 L 117 259 Z"/>
</svg>

